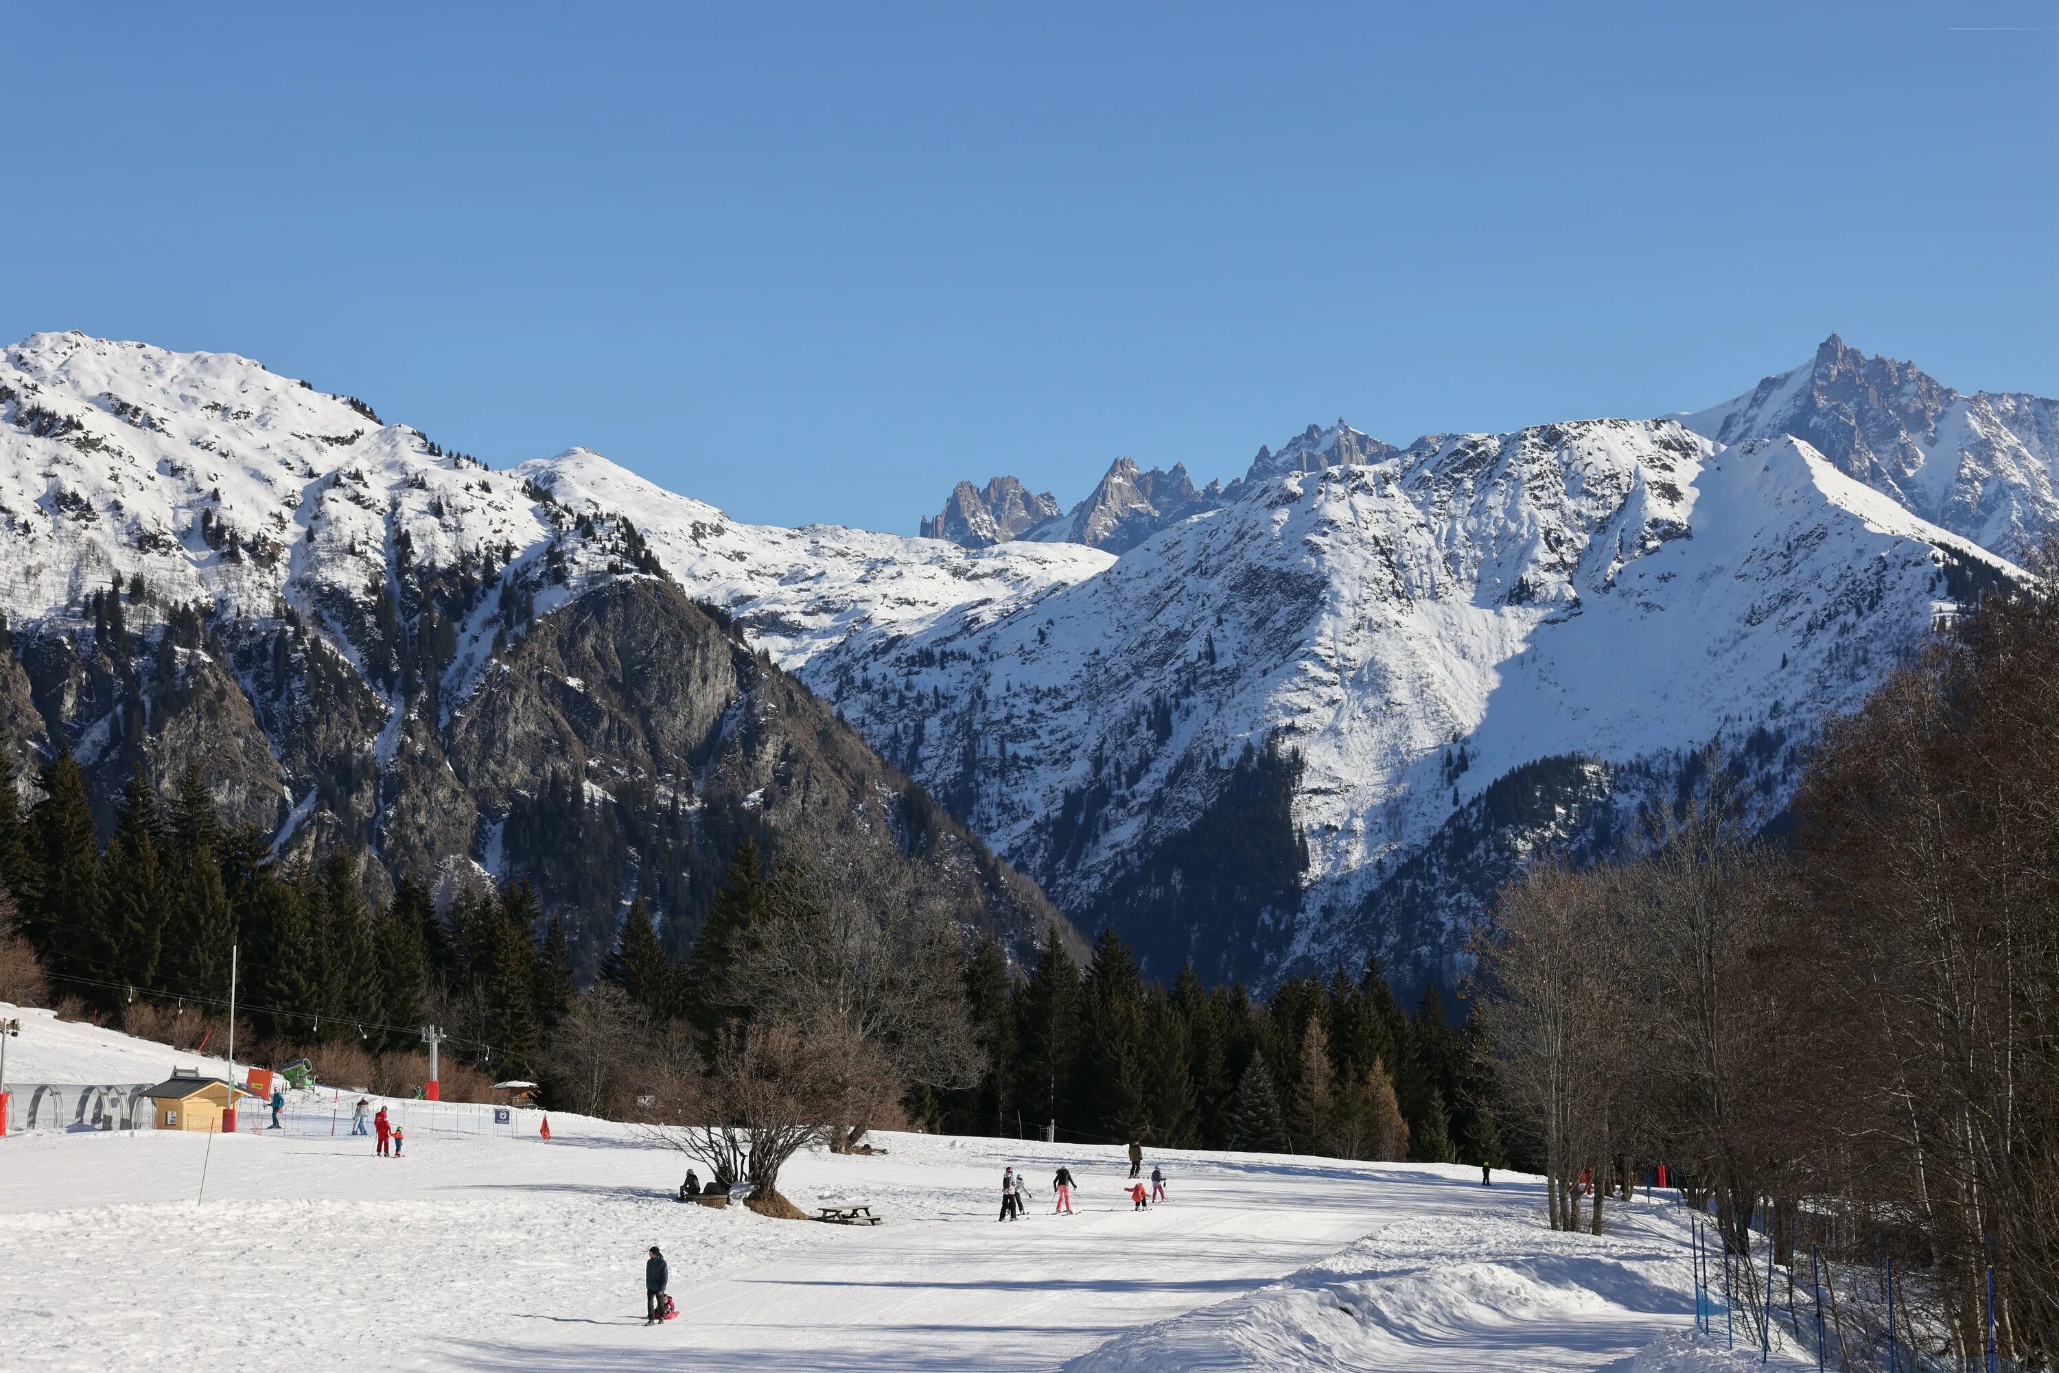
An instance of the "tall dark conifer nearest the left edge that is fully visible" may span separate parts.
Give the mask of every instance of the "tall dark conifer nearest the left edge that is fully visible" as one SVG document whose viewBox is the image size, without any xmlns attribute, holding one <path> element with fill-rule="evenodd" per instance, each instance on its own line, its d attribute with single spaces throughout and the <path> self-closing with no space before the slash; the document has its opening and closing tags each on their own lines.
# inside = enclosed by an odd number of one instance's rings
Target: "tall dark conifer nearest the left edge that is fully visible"
<svg viewBox="0 0 2059 1373">
<path fill-rule="evenodd" d="M 70 751 L 43 768 L 43 799 L 29 811 L 23 935 L 54 976 L 107 980 L 115 943 L 103 924 L 99 844 L 86 778 Z M 107 1005 L 107 990 L 84 986 Z"/>
</svg>

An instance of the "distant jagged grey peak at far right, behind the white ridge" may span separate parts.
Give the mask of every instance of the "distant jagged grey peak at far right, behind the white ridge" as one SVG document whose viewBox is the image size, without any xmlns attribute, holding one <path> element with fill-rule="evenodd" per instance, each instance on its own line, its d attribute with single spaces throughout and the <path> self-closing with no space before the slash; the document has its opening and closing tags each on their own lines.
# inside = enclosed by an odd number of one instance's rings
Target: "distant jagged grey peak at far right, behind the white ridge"
<svg viewBox="0 0 2059 1373">
<path fill-rule="evenodd" d="M 1804 438 L 1847 476 L 2005 558 L 2028 556 L 2059 519 L 2059 401 L 1962 395 L 1835 333 L 1804 366 L 1684 422 L 1717 443 Z"/>
</svg>

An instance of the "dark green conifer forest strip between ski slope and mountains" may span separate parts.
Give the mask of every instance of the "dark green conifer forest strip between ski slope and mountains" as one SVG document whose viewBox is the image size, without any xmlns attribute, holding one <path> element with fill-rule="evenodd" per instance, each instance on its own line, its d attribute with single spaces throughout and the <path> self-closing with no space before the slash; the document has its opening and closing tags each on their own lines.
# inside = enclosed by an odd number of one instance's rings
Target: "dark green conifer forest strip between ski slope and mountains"
<svg viewBox="0 0 2059 1373">
<path fill-rule="evenodd" d="M 745 840 L 690 939 L 632 902 L 599 980 L 579 988 L 562 920 L 523 881 L 461 889 L 443 910 L 404 881 L 375 906 L 348 848 L 284 862 L 261 834 L 218 823 L 198 770 L 169 803 L 138 772 L 105 840 L 68 755 L 39 793 L 25 811 L 0 805 L 19 912 L 0 996 L 45 994 L 181 1048 L 226 1029 L 235 947 L 243 1058 L 307 1054 L 364 1079 L 346 1085 L 412 1091 L 434 1023 L 447 1097 L 519 1077 L 560 1110 L 626 1116 L 677 1040 L 710 1046 L 752 1007 L 807 1021 L 809 988 L 857 978 L 865 1037 L 900 1087 L 869 1124 L 1503 1163 L 1470 1033 L 1435 986 L 1398 1005 L 1377 963 L 1260 1000 L 1192 972 L 1147 982 L 1104 930 L 1085 963 L 1052 932 L 1021 967 L 861 852 L 768 871 Z M 682 943 L 684 959 L 667 951 Z"/>
</svg>

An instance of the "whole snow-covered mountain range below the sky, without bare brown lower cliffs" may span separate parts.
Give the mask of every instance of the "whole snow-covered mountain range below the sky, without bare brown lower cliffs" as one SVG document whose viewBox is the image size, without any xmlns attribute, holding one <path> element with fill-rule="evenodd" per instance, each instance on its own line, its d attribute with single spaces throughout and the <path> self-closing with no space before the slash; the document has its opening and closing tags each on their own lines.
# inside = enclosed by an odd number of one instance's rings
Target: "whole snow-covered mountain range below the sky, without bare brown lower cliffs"
<svg viewBox="0 0 2059 1373">
<path fill-rule="evenodd" d="M 661 568 L 1153 972 L 1421 978 L 1538 844 L 1618 842 L 1703 745 L 1777 807 L 1824 712 L 2024 576 L 2055 414 L 1833 338 L 1684 418 L 1310 426 L 1227 488 L 1122 459 L 1067 515 L 962 484 L 910 539 L 741 525 L 583 449 L 488 471 L 245 358 L 35 336 L 0 362 L 0 605 L 25 667 L 109 634 L 113 576 L 239 642 L 294 624 L 362 690 L 303 720 L 239 659 L 278 760 L 249 809 L 290 830 L 319 782 L 385 834 L 408 741 L 457 747 L 529 626 Z M 132 729 L 29 675 L 39 747 Z M 408 862 L 507 865 L 496 805 Z"/>
</svg>

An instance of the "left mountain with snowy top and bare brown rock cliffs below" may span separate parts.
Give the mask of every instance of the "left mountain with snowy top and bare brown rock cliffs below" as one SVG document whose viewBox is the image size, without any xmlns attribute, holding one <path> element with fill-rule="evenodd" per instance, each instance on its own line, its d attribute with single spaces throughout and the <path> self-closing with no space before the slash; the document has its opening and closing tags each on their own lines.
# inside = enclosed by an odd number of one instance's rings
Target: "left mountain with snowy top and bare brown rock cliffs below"
<svg viewBox="0 0 2059 1373">
<path fill-rule="evenodd" d="M 371 846 L 373 885 L 535 881 L 589 970 L 630 895 L 684 949 L 743 838 L 906 869 L 1017 953 L 1077 939 L 620 515 L 233 356 L 37 336 L 0 393 L 16 780 L 70 749 L 105 821 L 198 762 L 229 821 Z"/>
</svg>

